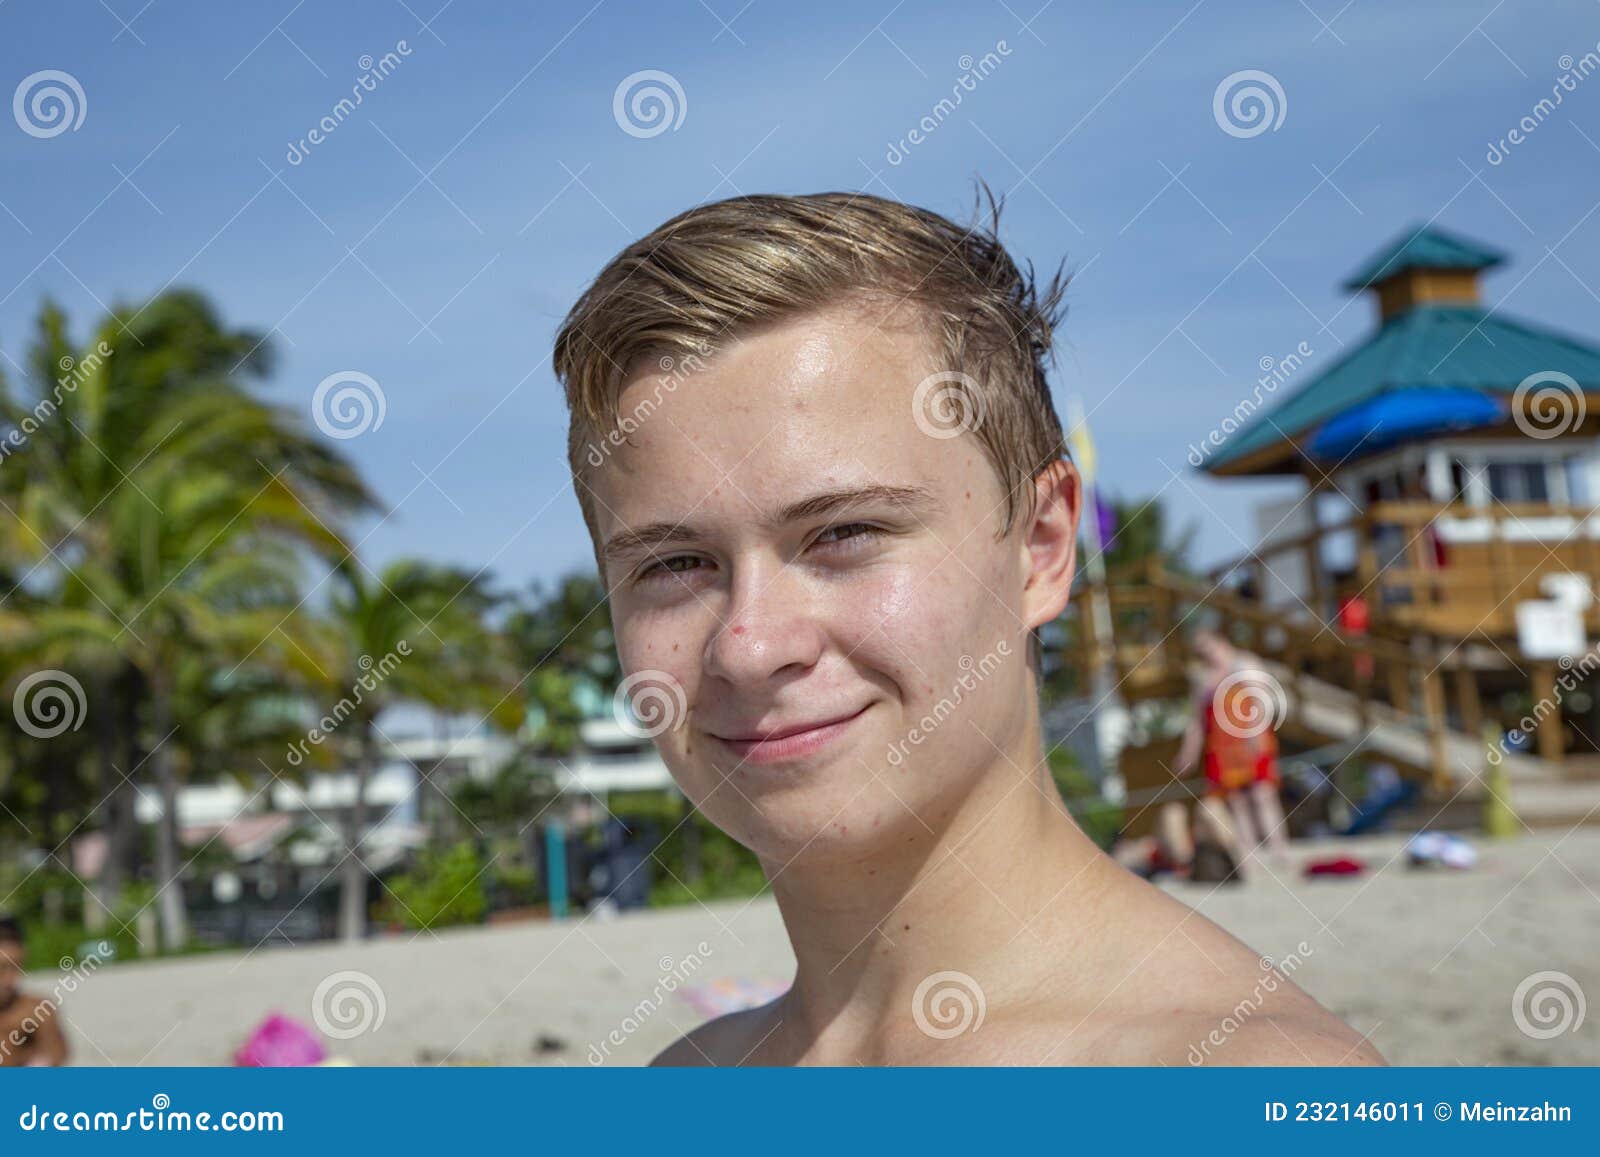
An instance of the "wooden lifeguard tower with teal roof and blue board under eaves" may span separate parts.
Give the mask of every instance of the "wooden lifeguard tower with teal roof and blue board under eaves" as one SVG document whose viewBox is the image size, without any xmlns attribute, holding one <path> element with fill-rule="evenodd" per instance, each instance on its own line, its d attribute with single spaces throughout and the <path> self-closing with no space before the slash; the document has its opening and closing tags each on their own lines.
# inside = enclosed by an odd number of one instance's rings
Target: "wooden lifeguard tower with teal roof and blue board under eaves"
<svg viewBox="0 0 1600 1157">
<path fill-rule="evenodd" d="M 1150 558 L 1107 576 L 1110 639 L 1080 599 L 1085 672 L 1130 704 L 1178 701 L 1203 615 L 1280 682 L 1291 738 L 1365 746 L 1437 792 L 1504 768 L 1518 803 L 1522 784 L 1594 775 L 1600 347 L 1486 307 L 1478 278 L 1504 261 L 1422 226 L 1350 277 L 1376 330 L 1190 454 L 1304 491 L 1261 507 L 1254 549 L 1208 574 Z M 1128 787 L 1170 779 L 1173 747 L 1125 749 Z M 1563 799 L 1552 818 L 1582 802 Z"/>
</svg>

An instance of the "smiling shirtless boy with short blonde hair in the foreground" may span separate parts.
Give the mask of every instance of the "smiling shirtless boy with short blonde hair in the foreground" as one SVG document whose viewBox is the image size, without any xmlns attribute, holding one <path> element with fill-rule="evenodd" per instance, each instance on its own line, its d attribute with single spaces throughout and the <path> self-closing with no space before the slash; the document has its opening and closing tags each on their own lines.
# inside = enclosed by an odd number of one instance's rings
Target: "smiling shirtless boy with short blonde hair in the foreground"
<svg viewBox="0 0 1600 1157">
<path fill-rule="evenodd" d="M 1259 992 L 1261 954 L 1051 781 L 1037 632 L 1083 504 L 1045 378 L 1064 283 L 989 208 L 702 205 L 557 334 L 618 698 L 757 855 L 798 965 L 658 1064 L 1186 1064 Z M 1218 1059 L 1381 1063 L 1288 983 Z"/>
</svg>

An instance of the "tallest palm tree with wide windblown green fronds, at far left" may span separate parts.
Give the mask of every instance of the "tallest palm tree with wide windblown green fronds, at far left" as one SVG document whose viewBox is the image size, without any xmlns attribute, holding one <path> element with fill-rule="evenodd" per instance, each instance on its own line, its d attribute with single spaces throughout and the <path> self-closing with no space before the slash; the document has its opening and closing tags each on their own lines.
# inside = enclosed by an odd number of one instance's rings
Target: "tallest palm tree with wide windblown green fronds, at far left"
<svg viewBox="0 0 1600 1157">
<path fill-rule="evenodd" d="M 229 330 L 195 293 L 115 310 L 74 350 L 46 306 L 29 355 L 32 398 L 0 384 L 26 443 L 8 466 L 13 523 L 0 550 L 51 587 L 26 618 L 0 608 L 0 647 L 138 672 L 163 802 L 158 903 L 168 949 L 187 939 L 178 842 L 174 715 L 184 663 L 293 664 L 304 634 L 298 566 L 349 555 L 336 530 L 376 506 L 354 467 L 299 414 L 246 387 L 269 346 Z M 19 461 L 18 461 L 19 459 Z"/>
</svg>

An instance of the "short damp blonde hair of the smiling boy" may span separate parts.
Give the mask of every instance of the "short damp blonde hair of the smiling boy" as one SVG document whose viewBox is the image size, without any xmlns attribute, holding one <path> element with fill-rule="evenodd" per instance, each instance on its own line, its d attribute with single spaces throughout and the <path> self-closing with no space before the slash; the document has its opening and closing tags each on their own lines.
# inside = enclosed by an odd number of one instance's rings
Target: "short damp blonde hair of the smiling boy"
<svg viewBox="0 0 1600 1157">
<path fill-rule="evenodd" d="M 1032 266 L 1018 267 L 987 186 L 973 219 L 963 229 L 867 194 L 733 197 L 680 213 L 622 250 L 555 338 L 571 410 L 566 456 L 589 533 L 584 469 L 630 432 L 619 402 L 634 373 L 653 362 L 677 378 L 744 331 L 851 299 L 918 307 L 941 370 L 978 392 L 958 405 L 1006 491 L 1002 538 L 1019 512 L 1032 517 L 1034 480 L 1067 456 L 1045 379 L 1067 282 L 1058 270 L 1038 286 Z"/>
</svg>

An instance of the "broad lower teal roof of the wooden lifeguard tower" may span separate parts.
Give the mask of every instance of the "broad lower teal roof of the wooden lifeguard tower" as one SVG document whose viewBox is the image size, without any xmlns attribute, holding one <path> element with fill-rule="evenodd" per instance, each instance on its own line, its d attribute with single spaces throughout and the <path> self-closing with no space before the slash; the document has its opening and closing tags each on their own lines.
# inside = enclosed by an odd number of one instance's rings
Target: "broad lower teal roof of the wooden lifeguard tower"
<svg viewBox="0 0 1600 1157">
<path fill-rule="evenodd" d="M 1216 474 L 1387 390 L 1466 386 L 1512 394 L 1528 374 L 1550 370 L 1600 392 L 1600 349 L 1594 346 L 1480 306 L 1416 306 L 1390 317 L 1277 406 L 1248 419 L 1203 469 Z"/>
</svg>

